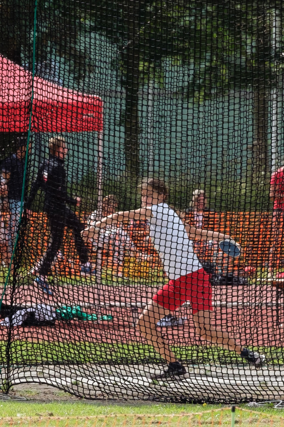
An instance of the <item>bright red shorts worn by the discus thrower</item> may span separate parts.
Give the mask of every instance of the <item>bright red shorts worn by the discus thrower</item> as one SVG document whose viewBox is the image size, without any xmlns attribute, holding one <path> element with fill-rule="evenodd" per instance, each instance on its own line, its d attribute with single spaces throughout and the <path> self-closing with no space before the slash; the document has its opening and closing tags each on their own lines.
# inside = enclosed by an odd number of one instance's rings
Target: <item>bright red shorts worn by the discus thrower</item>
<svg viewBox="0 0 284 427">
<path fill-rule="evenodd" d="M 166 310 L 175 311 L 186 301 L 190 301 L 192 313 L 212 310 L 212 288 L 209 275 L 203 268 L 170 280 L 154 295 L 153 301 Z"/>
</svg>

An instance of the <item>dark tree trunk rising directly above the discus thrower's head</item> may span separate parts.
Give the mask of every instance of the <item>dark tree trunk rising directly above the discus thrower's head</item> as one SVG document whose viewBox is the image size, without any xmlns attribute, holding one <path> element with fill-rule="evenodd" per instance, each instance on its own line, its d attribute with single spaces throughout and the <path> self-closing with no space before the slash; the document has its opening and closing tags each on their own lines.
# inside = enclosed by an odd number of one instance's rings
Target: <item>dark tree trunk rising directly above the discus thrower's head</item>
<svg viewBox="0 0 284 427">
<path fill-rule="evenodd" d="M 126 175 L 139 174 L 139 117 L 138 117 L 138 88 L 139 88 L 139 10 L 141 1 L 128 0 L 123 3 L 124 39 L 128 41 L 123 48 L 122 66 L 125 94 L 125 142 L 124 152 Z"/>
</svg>

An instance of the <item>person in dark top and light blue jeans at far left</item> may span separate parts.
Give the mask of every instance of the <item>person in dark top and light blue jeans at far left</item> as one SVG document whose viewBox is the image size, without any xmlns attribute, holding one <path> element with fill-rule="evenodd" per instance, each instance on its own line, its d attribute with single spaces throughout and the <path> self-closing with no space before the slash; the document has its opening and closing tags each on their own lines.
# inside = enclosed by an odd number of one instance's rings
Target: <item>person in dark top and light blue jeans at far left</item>
<svg viewBox="0 0 284 427">
<path fill-rule="evenodd" d="M 6 177 L 9 204 L 8 250 L 9 259 L 17 236 L 17 225 L 20 219 L 22 190 L 24 184 L 25 156 L 27 138 L 23 134 L 16 139 L 16 152 L 6 157 L 1 163 L 1 173 Z"/>
</svg>

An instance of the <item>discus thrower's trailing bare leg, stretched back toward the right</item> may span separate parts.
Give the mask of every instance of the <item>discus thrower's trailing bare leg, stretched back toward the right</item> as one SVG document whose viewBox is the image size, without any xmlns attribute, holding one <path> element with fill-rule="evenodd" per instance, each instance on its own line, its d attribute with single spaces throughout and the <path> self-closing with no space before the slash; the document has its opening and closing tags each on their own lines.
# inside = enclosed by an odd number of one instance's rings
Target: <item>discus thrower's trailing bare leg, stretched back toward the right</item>
<svg viewBox="0 0 284 427">
<path fill-rule="evenodd" d="M 223 348 L 235 351 L 241 354 L 244 348 L 241 343 L 235 340 L 235 338 L 229 333 L 221 330 L 218 326 L 214 326 L 211 323 L 213 317 L 212 311 L 200 310 L 193 315 L 193 322 L 195 324 L 195 331 L 201 338 L 207 342 L 218 344 Z"/>
</svg>

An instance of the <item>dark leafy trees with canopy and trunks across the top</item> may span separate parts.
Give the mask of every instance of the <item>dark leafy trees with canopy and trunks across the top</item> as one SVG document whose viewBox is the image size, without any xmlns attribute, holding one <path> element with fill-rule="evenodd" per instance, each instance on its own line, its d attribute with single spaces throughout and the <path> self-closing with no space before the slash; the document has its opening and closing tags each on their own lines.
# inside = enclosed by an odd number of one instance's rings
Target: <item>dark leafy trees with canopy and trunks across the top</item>
<svg viewBox="0 0 284 427">
<path fill-rule="evenodd" d="M 31 61 L 33 0 L 1 5 L 0 51 L 17 62 Z M 39 0 L 36 60 L 63 58 L 78 83 L 93 67 L 81 34 L 98 32 L 118 47 L 113 62 L 125 89 L 124 149 L 131 175 L 139 173 L 138 89 L 149 80 L 163 85 L 164 58 L 188 70 L 182 93 L 189 102 L 251 91 L 251 161 L 257 171 L 267 165 L 267 109 L 281 74 L 282 22 L 279 0 Z"/>
</svg>

